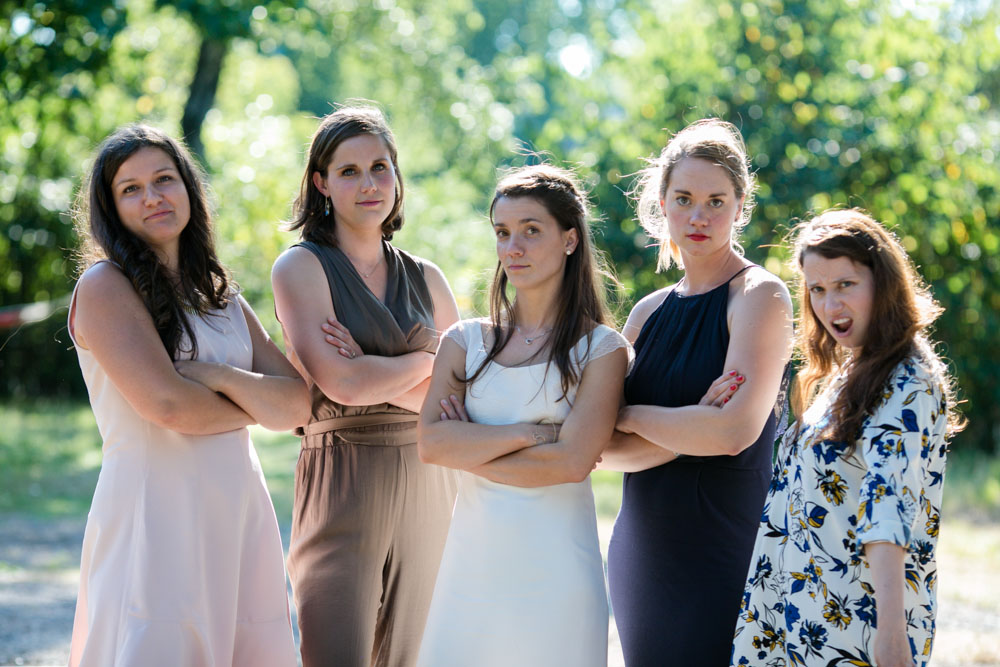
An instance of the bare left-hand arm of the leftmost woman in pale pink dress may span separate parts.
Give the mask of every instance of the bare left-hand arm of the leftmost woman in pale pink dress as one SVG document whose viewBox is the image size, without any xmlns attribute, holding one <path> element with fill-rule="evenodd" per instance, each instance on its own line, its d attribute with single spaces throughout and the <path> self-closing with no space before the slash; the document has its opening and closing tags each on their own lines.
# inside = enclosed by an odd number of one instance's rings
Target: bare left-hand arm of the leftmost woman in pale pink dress
<svg viewBox="0 0 1000 667">
<path fill-rule="evenodd" d="M 225 396 L 174 369 L 142 299 L 112 264 L 99 263 L 80 278 L 71 321 L 79 345 L 143 419 L 191 435 L 254 423 Z"/>
</svg>

